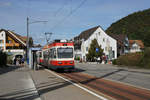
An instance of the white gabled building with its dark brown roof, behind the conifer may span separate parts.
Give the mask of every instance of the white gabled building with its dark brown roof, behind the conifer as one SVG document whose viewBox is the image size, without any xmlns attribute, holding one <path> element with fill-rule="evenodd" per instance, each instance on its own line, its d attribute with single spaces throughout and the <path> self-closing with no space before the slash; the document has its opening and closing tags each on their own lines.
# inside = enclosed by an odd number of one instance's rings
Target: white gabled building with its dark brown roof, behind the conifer
<svg viewBox="0 0 150 100">
<path fill-rule="evenodd" d="M 86 54 L 88 54 L 88 49 L 94 39 L 101 45 L 101 48 L 104 50 L 103 53 L 108 59 L 112 60 L 117 58 L 117 41 L 106 34 L 100 26 L 85 30 L 74 38 L 75 56 L 80 56 L 86 61 Z M 76 44 L 79 45 L 76 46 Z"/>
</svg>

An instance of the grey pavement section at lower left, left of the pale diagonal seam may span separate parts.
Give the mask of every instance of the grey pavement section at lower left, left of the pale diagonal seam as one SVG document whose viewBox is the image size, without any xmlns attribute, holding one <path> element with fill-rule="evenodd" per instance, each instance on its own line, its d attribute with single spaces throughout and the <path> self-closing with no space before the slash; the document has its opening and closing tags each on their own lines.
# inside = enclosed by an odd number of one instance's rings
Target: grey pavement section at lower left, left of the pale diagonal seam
<svg viewBox="0 0 150 100">
<path fill-rule="evenodd" d="M 28 68 L 0 68 L 0 100 L 41 100 Z"/>
</svg>

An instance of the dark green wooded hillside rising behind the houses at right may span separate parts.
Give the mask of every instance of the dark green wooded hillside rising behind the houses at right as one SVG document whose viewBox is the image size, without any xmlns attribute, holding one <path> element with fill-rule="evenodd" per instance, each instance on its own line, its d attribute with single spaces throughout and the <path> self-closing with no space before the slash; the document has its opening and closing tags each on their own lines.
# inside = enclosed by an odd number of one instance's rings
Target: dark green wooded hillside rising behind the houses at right
<svg viewBox="0 0 150 100">
<path fill-rule="evenodd" d="M 150 9 L 135 12 L 113 23 L 108 34 L 127 34 L 129 39 L 140 39 L 150 47 Z"/>
</svg>

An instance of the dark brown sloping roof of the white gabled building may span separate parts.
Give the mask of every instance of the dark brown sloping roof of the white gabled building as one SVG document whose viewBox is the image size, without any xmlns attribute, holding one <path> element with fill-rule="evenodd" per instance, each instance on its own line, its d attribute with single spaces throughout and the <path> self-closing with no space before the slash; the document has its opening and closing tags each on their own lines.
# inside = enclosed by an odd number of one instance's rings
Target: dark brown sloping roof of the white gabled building
<svg viewBox="0 0 150 100">
<path fill-rule="evenodd" d="M 96 31 L 97 28 L 99 28 L 99 27 L 100 26 L 96 26 L 96 27 L 87 29 L 87 30 L 81 32 L 80 35 L 75 37 L 74 39 L 75 40 L 81 40 L 81 39 L 87 40 L 94 33 L 94 31 Z"/>
</svg>

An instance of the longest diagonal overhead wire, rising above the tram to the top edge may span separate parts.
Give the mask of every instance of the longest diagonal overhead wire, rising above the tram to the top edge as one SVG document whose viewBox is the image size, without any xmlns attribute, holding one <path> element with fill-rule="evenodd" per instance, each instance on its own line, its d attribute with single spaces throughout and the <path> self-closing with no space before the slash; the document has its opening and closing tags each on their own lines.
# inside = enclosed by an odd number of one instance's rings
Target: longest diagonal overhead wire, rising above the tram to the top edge
<svg viewBox="0 0 150 100">
<path fill-rule="evenodd" d="M 51 30 L 55 29 L 56 27 L 60 26 L 68 17 L 70 17 L 73 13 L 75 13 L 79 8 L 82 7 L 82 5 L 84 5 L 84 3 L 87 0 L 83 0 L 75 9 L 73 9 L 66 17 L 64 17 L 60 22 L 56 23 L 54 25 L 54 27 L 51 28 Z"/>
</svg>

